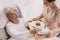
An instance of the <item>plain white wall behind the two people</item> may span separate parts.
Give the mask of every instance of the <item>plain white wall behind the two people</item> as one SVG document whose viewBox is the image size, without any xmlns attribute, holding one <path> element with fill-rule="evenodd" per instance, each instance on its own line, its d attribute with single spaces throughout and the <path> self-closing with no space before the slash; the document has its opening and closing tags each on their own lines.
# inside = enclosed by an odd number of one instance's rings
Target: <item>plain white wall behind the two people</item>
<svg viewBox="0 0 60 40">
<path fill-rule="evenodd" d="M 43 0 L 0 0 L 0 9 L 9 5 L 18 5 L 25 19 L 31 19 L 38 15 L 43 10 Z M 60 7 L 60 1 L 56 1 Z"/>
</svg>

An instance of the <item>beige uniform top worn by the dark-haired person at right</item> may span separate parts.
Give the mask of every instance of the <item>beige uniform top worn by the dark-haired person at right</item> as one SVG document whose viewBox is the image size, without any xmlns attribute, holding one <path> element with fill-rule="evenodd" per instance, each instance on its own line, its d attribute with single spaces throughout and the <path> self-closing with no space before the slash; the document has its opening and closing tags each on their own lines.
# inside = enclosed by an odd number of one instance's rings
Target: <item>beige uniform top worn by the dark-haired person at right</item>
<svg viewBox="0 0 60 40">
<path fill-rule="evenodd" d="M 44 6 L 43 16 L 51 29 L 58 27 L 58 24 L 60 24 L 60 10 L 56 6 L 52 9 Z"/>
</svg>

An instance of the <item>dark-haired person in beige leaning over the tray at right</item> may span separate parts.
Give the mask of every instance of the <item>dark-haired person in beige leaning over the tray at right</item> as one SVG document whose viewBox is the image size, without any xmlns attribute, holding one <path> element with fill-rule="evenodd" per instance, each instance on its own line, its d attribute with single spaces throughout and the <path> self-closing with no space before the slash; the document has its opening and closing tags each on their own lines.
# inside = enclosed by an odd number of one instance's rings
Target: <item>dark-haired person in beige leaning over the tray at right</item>
<svg viewBox="0 0 60 40">
<path fill-rule="evenodd" d="M 45 24 L 49 28 L 48 34 L 60 36 L 60 9 L 55 5 L 56 0 L 43 0 L 43 12 L 36 19 L 45 18 Z"/>
</svg>

